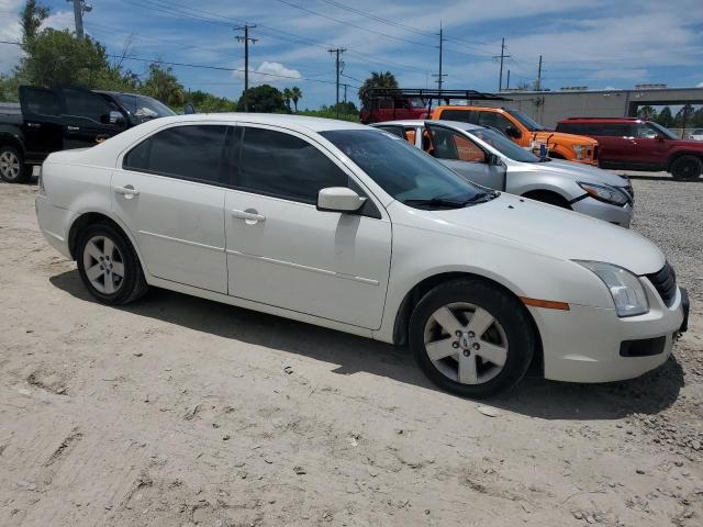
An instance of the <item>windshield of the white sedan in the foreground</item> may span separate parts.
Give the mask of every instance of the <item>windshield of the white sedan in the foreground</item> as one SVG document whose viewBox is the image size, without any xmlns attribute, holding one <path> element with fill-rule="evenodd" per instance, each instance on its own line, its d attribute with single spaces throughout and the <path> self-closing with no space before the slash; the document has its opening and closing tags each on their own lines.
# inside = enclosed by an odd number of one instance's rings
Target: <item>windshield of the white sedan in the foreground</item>
<svg viewBox="0 0 703 527">
<path fill-rule="evenodd" d="M 378 130 L 321 132 L 395 200 L 416 209 L 457 209 L 492 192 L 470 183 L 406 141 Z"/>
</svg>

